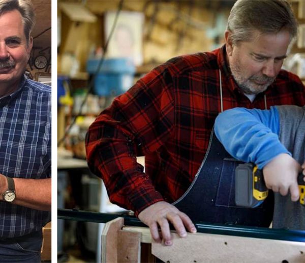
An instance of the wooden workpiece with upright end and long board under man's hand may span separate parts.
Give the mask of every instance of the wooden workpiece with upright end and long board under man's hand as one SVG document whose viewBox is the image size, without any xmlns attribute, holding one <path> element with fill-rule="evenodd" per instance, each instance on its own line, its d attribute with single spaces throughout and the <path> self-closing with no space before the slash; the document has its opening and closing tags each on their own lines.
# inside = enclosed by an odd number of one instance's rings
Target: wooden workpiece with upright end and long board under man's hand
<svg viewBox="0 0 305 263">
<path fill-rule="evenodd" d="M 188 233 L 173 245 L 151 240 L 149 228 L 108 222 L 102 234 L 102 262 L 305 262 L 305 243 L 210 233 Z M 147 246 L 148 245 L 148 246 Z M 142 249 L 143 250 L 142 250 Z M 151 253 L 149 249 L 151 248 Z"/>
</svg>

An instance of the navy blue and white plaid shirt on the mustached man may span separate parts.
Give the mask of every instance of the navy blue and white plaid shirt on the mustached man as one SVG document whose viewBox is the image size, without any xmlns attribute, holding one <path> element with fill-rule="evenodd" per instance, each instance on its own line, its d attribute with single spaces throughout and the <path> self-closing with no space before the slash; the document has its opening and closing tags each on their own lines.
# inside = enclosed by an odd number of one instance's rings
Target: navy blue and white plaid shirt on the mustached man
<svg viewBox="0 0 305 263">
<path fill-rule="evenodd" d="M 51 88 L 24 76 L 15 93 L 0 98 L 0 173 L 51 177 Z M 40 230 L 50 218 L 50 212 L 0 202 L 0 238 Z"/>
</svg>

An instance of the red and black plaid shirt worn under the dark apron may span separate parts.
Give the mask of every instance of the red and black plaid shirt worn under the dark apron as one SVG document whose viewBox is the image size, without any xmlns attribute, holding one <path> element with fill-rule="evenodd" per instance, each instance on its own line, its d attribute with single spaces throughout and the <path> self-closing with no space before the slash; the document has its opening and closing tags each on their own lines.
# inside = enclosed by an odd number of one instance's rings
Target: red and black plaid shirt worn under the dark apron
<svg viewBox="0 0 305 263">
<path fill-rule="evenodd" d="M 161 200 L 173 202 L 190 186 L 221 111 L 305 104 L 299 78 L 281 70 L 251 102 L 238 89 L 225 62 L 225 48 L 173 58 L 118 96 L 89 127 L 90 169 L 105 183 L 111 202 L 138 214 Z M 135 156 L 145 155 L 145 173 Z"/>
</svg>

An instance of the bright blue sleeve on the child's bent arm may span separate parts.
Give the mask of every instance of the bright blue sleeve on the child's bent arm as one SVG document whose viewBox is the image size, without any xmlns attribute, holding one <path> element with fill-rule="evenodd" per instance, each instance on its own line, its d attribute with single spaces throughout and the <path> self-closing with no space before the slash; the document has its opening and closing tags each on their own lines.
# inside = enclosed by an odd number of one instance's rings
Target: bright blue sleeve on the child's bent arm
<svg viewBox="0 0 305 263">
<path fill-rule="evenodd" d="M 255 163 L 262 169 L 274 157 L 289 153 L 279 140 L 280 116 L 270 110 L 234 108 L 221 113 L 215 121 L 215 134 L 236 159 Z"/>
</svg>

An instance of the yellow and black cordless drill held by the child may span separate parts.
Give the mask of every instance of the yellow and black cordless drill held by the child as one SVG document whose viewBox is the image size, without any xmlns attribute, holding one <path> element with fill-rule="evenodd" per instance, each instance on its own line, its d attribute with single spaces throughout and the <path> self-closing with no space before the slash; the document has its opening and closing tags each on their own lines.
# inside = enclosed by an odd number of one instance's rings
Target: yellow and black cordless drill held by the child
<svg viewBox="0 0 305 263">
<path fill-rule="evenodd" d="M 305 205 L 304 175 L 299 173 L 297 182 L 300 191 L 299 202 Z M 254 164 L 240 164 L 235 169 L 235 203 L 237 206 L 256 207 L 268 196 L 263 172 Z"/>
</svg>

